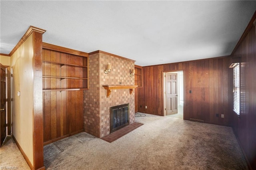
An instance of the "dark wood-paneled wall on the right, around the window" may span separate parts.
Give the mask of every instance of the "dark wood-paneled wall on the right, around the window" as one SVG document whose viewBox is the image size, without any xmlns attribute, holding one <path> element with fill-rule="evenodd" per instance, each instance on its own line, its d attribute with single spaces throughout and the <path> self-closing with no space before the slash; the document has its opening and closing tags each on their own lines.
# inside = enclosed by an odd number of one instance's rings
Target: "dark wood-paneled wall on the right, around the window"
<svg viewBox="0 0 256 170">
<path fill-rule="evenodd" d="M 251 169 L 256 169 L 256 26 L 252 24 L 254 20 L 256 12 L 246 28 L 248 31 L 242 36 L 244 39 L 232 53 L 232 57 L 240 57 L 240 117 L 230 110 L 234 119 L 234 132 Z M 232 77 L 232 72 L 229 77 Z M 229 88 L 232 89 L 232 84 Z M 233 99 L 232 97 L 231 90 L 230 99 Z"/>
</svg>

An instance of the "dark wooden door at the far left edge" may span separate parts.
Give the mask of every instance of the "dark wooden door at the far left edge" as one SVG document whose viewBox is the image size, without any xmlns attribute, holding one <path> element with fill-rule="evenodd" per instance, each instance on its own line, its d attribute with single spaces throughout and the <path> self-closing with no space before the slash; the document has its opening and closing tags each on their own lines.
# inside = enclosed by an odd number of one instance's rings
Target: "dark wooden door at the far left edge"
<svg viewBox="0 0 256 170">
<path fill-rule="evenodd" d="M 0 64 L 0 146 L 6 137 L 6 69 Z"/>
</svg>

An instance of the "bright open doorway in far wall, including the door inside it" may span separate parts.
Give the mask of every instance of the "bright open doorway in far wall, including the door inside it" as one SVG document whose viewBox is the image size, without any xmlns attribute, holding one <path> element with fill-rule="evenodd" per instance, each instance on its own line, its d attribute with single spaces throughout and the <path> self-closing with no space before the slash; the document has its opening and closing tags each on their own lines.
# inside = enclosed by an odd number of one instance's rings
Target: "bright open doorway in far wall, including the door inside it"
<svg viewBox="0 0 256 170">
<path fill-rule="evenodd" d="M 164 72 L 164 116 L 183 119 L 183 71 Z"/>
</svg>

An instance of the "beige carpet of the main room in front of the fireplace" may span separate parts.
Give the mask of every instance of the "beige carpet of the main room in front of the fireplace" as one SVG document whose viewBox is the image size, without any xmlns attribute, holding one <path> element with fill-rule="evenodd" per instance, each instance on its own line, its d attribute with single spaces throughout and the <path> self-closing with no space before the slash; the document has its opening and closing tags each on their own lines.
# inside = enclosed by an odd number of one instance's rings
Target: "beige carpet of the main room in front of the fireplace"
<svg viewBox="0 0 256 170">
<path fill-rule="evenodd" d="M 246 170 L 232 128 L 146 114 L 112 143 L 85 132 L 44 146 L 48 170 Z"/>
</svg>

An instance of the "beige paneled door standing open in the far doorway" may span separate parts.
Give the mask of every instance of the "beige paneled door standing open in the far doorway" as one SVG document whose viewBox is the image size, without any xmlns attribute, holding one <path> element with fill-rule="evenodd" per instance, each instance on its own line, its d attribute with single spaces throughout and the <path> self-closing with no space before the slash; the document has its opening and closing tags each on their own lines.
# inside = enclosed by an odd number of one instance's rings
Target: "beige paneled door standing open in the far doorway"
<svg viewBox="0 0 256 170">
<path fill-rule="evenodd" d="M 178 113 L 177 73 L 166 73 L 166 115 Z"/>
</svg>

